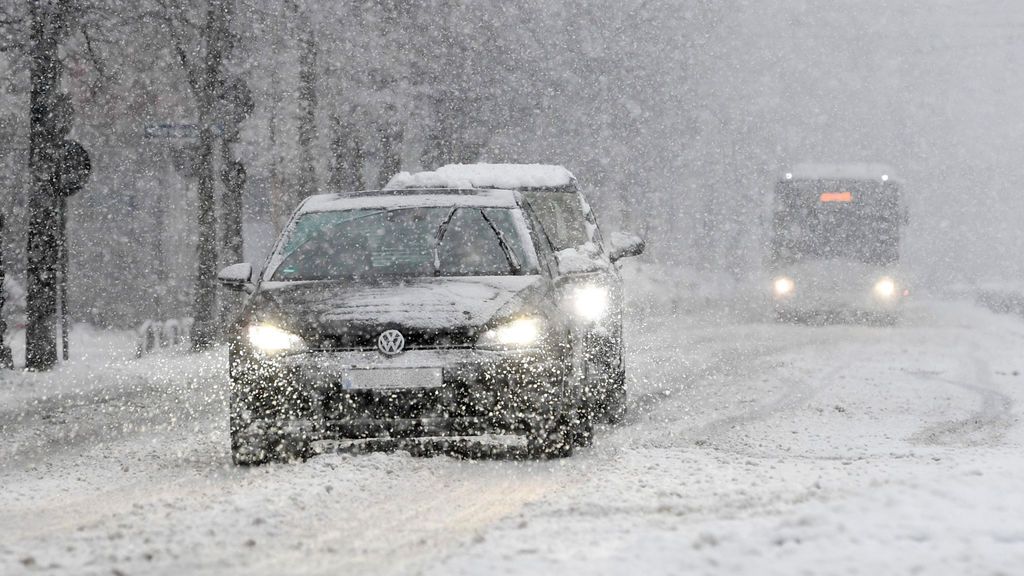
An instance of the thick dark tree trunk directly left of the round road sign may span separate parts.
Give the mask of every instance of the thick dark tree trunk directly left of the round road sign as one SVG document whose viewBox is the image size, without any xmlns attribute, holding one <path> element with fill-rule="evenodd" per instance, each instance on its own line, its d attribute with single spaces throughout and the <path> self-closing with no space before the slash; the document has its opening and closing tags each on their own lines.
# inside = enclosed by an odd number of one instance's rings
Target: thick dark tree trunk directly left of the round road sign
<svg viewBox="0 0 1024 576">
<path fill-rule="evenodd" d="M 48 370 L 56 363 L 56 266 L 59 219 L 54 194 L 61 129 L 58 115 L 62 66 L 57 52 L 62 2 L 32 2 L 29 166 L 28 327 L 26 368 Z M 67 119 L 66 119 L 67 120 Z"/>
</svg>

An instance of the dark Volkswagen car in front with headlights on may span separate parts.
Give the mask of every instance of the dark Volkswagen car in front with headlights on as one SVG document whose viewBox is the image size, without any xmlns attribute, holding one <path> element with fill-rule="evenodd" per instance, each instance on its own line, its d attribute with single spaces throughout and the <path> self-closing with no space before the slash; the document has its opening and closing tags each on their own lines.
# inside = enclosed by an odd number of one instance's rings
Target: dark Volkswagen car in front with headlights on
<svg viewBox="0 0 1024 576">
<path fill-rule="evenodd" d="M 543 227 L 511 191 L 314 196 L 250 292 L 230 345 L 237 463 L 340 439 L 589 441 L 583 334 Z"/>
</svg>

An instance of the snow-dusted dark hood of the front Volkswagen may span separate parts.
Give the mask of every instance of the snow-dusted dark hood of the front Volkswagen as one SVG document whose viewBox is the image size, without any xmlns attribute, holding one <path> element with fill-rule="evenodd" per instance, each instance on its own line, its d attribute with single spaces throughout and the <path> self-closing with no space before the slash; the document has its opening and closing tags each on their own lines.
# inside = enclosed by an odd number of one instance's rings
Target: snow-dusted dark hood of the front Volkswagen
<svg viewBox="0 0 1024 576">
<path fill-rule="evenodd" d="M 472 332 L 530 306 L 541 286 L 540 276 L 265 283 L 253 313 L 302 335 Z"/>
</svg>

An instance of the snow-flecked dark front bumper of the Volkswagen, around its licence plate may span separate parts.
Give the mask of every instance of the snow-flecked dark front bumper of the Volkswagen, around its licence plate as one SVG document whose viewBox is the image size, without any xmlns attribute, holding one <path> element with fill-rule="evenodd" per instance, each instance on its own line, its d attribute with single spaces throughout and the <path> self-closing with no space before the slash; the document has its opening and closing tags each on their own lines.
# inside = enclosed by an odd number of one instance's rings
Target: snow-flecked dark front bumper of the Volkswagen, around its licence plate
<svg viewBox="0 0 1024 576">
<path fill-rule="evenodd" d="M 232 414 L 308 440 L 522 434 L 572 402 L 569 363 L 542 351 L 311 352 L 232 363 Z M 350 370 L 433 369 L 440 385 L 351 388 Z"/>
</svg>

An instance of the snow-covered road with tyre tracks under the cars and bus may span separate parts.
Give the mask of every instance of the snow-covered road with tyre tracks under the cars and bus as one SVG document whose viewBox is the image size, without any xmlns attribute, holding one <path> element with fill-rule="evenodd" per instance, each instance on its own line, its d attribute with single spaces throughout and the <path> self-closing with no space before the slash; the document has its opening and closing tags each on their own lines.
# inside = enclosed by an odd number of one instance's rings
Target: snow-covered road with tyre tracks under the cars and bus
<svg viewBox="0 0 1024 576">
<path fill-rule="evenodd" d="M 639 316 L 639 315 L 638 315 Z M 656 315 L 645 315 L 656 316 Z M 631 327 L 629 420 L 561 461 L 228 464 L 222 352 L 0 376 L 0 574 L 1012 574 L 1024 321 Z"/>
</svg>

